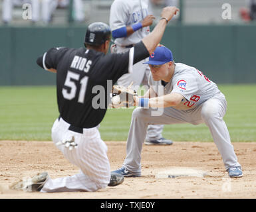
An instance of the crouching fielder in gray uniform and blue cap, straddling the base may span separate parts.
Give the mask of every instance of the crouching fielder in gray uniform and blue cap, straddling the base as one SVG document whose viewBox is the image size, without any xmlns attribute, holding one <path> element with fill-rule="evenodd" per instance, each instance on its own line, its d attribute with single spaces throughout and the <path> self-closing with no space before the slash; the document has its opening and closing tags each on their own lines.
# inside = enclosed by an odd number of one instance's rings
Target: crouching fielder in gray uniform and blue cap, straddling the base
<svg viewBox="0 0 256 212">
<path fill-rule="evenodd" d="M 134 97 L 140 107 L 132 113 L 124 164 L 114 172 L 123 176 L 141 175 L 141 151 L 148 125 L 205 123 L 229 177 L 243 176 L 223 121 L 227 101 L 217 85 L 196 68 L 174 63 L 172 52 L 164 46 L 157 47 L 146 64 L 150 66 L 152 86 L 144 97 Z M 162 109 L 162 113 L 154 115 L 152 107 L 158 107 L 160 112 Z"/>
</svg>

